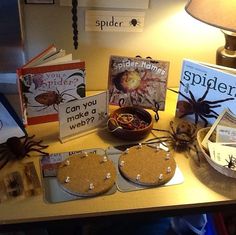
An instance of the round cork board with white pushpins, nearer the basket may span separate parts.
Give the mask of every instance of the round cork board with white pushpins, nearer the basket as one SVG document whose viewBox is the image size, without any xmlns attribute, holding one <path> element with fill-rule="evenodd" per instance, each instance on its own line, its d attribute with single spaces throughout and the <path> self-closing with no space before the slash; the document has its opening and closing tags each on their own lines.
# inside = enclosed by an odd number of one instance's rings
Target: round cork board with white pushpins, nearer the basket
<svg viewBox="0 0 236 235">
<path fill-rule="evenodd" d="M 139 145 L 127 149 L 120 156 L 119 170 L 126 179 L 136 184 L 159 186 L 174 176 L 176 162 L 170 152 Z"/>
</svg>

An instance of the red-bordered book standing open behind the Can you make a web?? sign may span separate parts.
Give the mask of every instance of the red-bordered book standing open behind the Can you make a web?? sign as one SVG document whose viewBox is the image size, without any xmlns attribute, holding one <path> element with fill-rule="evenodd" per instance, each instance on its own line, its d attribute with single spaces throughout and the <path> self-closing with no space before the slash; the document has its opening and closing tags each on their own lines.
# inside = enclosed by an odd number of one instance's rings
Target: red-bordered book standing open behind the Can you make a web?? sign
<svg viewBox="0 0 236 235">
<path fill-rule="evenodd" d="M 58 105 L 85 96 L 85 62 L 54 45 L 17 70 L 24 123 L 58 121 Z"/>
</svg>

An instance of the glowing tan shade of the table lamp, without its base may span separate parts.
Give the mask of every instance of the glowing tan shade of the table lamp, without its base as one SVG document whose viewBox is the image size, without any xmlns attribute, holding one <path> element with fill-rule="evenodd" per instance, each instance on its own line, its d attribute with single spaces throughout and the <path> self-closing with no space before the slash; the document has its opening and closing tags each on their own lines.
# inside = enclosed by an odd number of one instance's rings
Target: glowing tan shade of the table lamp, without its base
<svg viewBox="0 0 236 235">
<path fill-rule="evenodd" d="M 185 10 L 204 23 L 236 32 L 236 0 L 190 0 Z"/>
</svg>

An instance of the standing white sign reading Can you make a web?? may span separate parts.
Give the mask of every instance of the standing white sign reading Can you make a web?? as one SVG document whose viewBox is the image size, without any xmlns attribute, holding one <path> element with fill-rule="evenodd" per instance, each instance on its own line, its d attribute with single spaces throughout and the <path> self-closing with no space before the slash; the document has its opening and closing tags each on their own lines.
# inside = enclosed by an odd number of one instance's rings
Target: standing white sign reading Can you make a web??
<svg viewBox="0 0 236 235">
<path fill-rule="evenodd" d="M 108 115 L 107 91 L 59 106 L 60 140 L 66 142 L 105 123 Z"/>
</svg>

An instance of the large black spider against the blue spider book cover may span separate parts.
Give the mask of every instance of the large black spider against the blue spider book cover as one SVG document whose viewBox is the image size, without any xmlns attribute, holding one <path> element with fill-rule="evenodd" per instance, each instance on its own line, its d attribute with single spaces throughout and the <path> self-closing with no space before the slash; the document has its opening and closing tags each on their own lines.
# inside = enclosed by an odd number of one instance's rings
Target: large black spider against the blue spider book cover
<svg viewBox="0 0 236 235">
<path fill-rule="evenodd" d="M 181 83 L 184 85 L 183 83 Z M 185 85 L 184 85 L 185 86 Z M 210 90 L 210 86 L 207 86 L 207 89 L 203 96 L 199 99 L 195 99 L 193 93 L 191 90 L 189 91 L 190 97 L 187 97 L 184 95 L 182 92 L 177 92 L 174 90 L 171 90 L 175 93 L 180 94 L 182 97 L 184 97 L 186 100 L 179 100 L 177 103 L 177 108 L 178 111 L 180 112 L 179 118 L 183 118 L 188 115 L 194 115 L 195 116 L 195 124 L 198 123 L 199 118 L 204 121 L 204 126 L 206 127 L 208 125 L 207 118 L 217 118 L 218 113 L 216 113 L 213 109 L 217 107 L 221 107 L 221 104 L 229 100 L 234 100 L 234 98 L 226 98 L 222 100 L 215 100 L 215 101 L 210 101 L 210 100 L 205 100 L 208 92 Z"/>
</svg>

